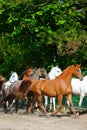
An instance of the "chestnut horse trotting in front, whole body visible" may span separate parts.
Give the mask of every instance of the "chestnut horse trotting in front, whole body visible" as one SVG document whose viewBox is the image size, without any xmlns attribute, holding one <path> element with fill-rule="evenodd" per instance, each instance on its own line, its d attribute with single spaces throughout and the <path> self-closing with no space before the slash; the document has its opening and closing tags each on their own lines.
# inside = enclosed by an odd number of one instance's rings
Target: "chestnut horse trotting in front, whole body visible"
<svg viewBox="0 0 87 130">
<path fill-rule="evenodd" d="M 38 101 L 38 106 L 43 112 L 47 115 L 47 111 L 42 105 L 42 95 L 47 95 L 49 97 L 57 97 L 58 98 L 58 110 L 54 111 L 52 114 L 57 114 L 62 107 L 63 96 L 67 96 L 67 99 L 71 105 L 72 112 L 75 116 L 77 113 L 75 112 L 73 103 L 72 103 L 72 86 L 71 79 L 72 76 L 78 77 L 80 80 L 83 79 L 81 74 L 80 65 L 71 65 L 68 66 L 60 76 L 53 80 L 37 80 L 30 86 L 30 91 L 33 92 L 35 98 L 31 103 L 28 112 L 31 113 L 36 101 Z"/>
</svg>

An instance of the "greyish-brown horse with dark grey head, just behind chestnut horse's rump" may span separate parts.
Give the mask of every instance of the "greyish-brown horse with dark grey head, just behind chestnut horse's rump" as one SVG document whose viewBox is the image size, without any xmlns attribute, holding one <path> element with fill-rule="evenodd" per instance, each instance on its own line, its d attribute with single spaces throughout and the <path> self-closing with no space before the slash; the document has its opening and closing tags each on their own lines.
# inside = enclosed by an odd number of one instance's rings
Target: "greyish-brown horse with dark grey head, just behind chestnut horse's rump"
<svg viewBox="0 0 87 130">
<path fill-rule="evenodd" d="M 48 74 L 47 74 L 45 68 L 34 69 L 33 73 L 29 77 L 26 76 L 25 79 L 18 80 L 14 84 L 11 85 L 10 92 L 11 92 L 11 94 L 16 96 L 16 112 L 17 112 L 17 108 L 18 108 L 18 99 L 19 98 L 28 99 L 28 96 L 27 96 L 28 87 L 32 83 L 31 81 L 35 81 L 33 79 L 40 79 L 42 77 L 45 79 L 48 78 Z"/>
</svg>

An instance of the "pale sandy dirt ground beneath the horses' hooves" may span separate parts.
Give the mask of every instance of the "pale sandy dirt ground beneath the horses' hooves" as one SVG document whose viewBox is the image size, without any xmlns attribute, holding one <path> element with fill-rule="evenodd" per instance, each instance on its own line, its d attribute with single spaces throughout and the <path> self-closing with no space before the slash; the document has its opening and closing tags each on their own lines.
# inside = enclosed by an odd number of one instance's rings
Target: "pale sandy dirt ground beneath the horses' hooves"
<svg viewBox="0 0 87 130">
<path fill-rule="evenodd" d="M 0 130 L 87 130 L 87 112 L 78 118 L 59 113 L 46 117 L 40 110 L 28 115 L 24 109 L 5 114 L 0 108 Z"/>
</svg>

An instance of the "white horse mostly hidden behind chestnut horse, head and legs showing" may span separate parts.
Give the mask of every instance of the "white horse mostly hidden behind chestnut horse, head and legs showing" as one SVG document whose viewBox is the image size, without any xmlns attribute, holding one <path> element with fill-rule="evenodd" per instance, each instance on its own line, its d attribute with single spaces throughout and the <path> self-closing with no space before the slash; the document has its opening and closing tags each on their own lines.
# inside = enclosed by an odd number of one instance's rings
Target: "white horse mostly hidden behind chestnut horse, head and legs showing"
<svg viewBox="0 0 87 130">
<path fill-rule="evenodd" d="M 52 67 L 51 71 L 48 73 L 48 76 L 50 80 L 55 79 L 57 76 L 59 76 L 62 73 L 61 69 L 58 66 Z M 48 97 L 44 96 L 45 99 L 45 108 L 48 105 Z M 55 111 L 56 108 L 56 98 L 50 98 L 50 110 L 52 109 L 52 104 L 53 104 L 53 110 Z"/>
</svg>

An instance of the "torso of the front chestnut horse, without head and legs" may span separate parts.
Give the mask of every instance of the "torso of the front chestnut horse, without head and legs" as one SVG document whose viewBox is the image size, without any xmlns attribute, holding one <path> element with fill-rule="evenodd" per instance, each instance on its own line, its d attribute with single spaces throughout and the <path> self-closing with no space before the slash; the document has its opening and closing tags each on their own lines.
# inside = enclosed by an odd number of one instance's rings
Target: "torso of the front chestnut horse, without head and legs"
<svg viewBox="0 0 87 130">
<path fill-rule="evenodd" d="M 63 84 L 63 87 L 61 87 L 61 84 Z M 67 86 L 69 87 L 69 89 Z M 53 80 L 38 80 L 35 82 L 34 87 L 32 87 L 31 85 L 31 88 L 33 92 L 41 92 L 42 95 L 47 95 L 49 97 L 57 97 L 61 93 L 63 95 L 67 95 L 68 93 L 72 92 L 72 87 L 69 86 L 68 83 L 66 84 L 64 79 L 62 80 L 61 78 L 57 77 Z"/>
</svg>

